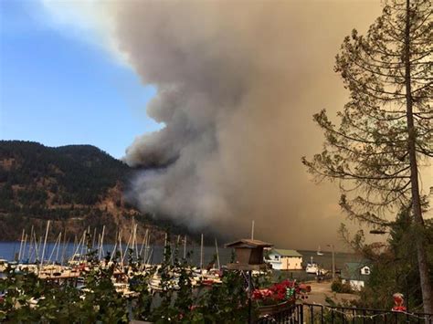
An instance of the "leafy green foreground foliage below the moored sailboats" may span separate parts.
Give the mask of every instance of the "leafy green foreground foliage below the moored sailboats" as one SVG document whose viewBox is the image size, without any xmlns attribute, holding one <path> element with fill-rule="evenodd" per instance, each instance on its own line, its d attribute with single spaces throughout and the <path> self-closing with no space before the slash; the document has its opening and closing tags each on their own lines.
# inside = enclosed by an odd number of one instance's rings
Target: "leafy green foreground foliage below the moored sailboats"
<svg viewBox="0 0 433 324">
<path fill-rule="evenodd" d="M 38 278 L 33 273 L 21 273 L 12 267 L 0 280 L 1 322 L 38 323 L 126 323 L 131 319 L 155 323 L 245 323 L 248 319 L 248 296 L 245 277 L 239 271 L 229 271 L 222 284 L 212 287 L 192 286 L 192 267 L 186 259 L 179 259 L 177 246 L 172 253 L 165 246 L 164 262 L 157 273 L 161 277 L 161 291 L 151 291 L 149 282 L 156 270 L 143 271 L 140 258 L 128 253 L 125 267 L 132 294 L 122 295 L 113 284 L 117 256 L 100 265 L 97 251 L 91 250 L 87 237 L 87 265 L 83 270 L 85 287 L 74 286 L 74 279 L 61 284 Z M 178 289 L 174 290 L 174 277 Z"/>
</svg>

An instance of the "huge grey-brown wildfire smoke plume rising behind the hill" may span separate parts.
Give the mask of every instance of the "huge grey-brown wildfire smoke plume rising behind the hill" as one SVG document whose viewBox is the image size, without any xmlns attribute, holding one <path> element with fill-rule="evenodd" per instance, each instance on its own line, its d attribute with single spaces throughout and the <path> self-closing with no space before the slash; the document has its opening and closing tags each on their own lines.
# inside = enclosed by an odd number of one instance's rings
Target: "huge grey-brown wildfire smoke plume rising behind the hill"
<svg viewBox="0 0 433 324">
<path fill-rule="evenodd" d="M 116 39 L 144 84 L 161 131 L 124 160 L 146 167 L 132 195 L 143 211 L 193 228 L 281 247 L 335 243 L 338 193 L 317 186 L 302 155 L 321 148 L 312 114 L 347 94 L 333 57 L 353 27 L 380 13 L 368 2 L 122 1 Z"/>
</svg>

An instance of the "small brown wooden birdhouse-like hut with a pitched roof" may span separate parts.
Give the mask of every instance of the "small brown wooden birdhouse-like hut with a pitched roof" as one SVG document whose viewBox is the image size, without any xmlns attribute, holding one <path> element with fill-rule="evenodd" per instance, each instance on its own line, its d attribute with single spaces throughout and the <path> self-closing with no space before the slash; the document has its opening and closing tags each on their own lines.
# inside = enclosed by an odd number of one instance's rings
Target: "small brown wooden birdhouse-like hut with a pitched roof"
<svg viewBox="0 0 433 324">
<path fill-rule="evenodd" d="M 270 243 L 260 240 L 241 238 L 238 241 L 228 243 L 226 247 L 235 249 L 236 260 L 235 263 L 228 264 L 230 269 L 238 270 L 260 270 L 266 268 L 263 261 L 263 249 L 271 247 Z"/>
</svg>

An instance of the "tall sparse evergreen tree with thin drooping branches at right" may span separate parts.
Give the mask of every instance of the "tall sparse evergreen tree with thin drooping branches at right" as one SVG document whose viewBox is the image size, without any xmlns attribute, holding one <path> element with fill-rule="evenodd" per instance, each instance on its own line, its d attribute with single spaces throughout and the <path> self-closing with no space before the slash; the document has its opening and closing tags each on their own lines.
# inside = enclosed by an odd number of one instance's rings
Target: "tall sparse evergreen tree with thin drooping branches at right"
<svg viewBox="0 0 433 324">
<path fill-rule="evenodd" d="M 345 37 L 335 71 L 350 100 L 333 124 L 314 115 L 324 131 L 321 154 L 302 158 L 320 178 L 337 179 L 350 217 L 389 225 L 386 214 L 410 206 L 424 310 L 433 313 L 423 245 L 425 225 L 418 168 L 433 157 L 432 19 L 429 0 L 391 0 L 365 36 Z"/>
</svg>

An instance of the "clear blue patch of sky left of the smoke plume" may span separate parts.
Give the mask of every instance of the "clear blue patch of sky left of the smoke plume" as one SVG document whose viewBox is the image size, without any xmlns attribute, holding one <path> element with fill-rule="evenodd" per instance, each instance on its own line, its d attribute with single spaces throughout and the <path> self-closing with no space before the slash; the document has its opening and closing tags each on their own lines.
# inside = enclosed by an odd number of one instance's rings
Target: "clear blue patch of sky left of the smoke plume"
<svg viewBox="0 0 433 324">
<path fill-rule="evenodd" d="M 160 127 L 145 114 L 154 89 L 96 32 L 50 15 L 35 0 L 0 0 L 0 139 L 91 144 L 121 158 L 135 136 Z"/>
</svg>

